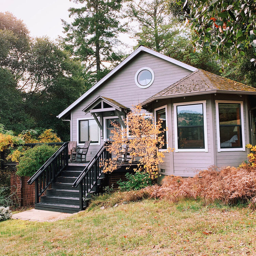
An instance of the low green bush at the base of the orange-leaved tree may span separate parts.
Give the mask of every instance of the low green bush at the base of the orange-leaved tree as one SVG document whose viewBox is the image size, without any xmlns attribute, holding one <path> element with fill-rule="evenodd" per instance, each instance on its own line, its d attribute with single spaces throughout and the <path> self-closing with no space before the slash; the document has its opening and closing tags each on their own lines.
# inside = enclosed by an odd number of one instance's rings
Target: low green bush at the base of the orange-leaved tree
<svg viewBox="0 0 256 256">
<path fill-rule="evenodd" d="M 151 186 L 152 180 L 147 173 L 136 172 L 134 174 L 125 174 L 127 181 L 118 181 L 117 184 L 122 191 L 139 190 L 141 188 Z"/>
</svg>

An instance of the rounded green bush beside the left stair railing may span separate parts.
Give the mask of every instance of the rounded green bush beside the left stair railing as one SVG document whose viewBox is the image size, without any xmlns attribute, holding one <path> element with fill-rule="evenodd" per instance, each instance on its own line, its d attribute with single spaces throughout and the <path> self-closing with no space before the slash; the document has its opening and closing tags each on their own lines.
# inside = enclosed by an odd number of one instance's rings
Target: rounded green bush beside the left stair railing
<svg viewBox="0 0 256 256">
<path fill-rule="evenodd" d="M 17 165 L 17 174 L 20 176 L 32 176 L 38 169 L 58 150 L 59 146 L 42 144 L 29 148 L 20 158 Z"/>
</svg>

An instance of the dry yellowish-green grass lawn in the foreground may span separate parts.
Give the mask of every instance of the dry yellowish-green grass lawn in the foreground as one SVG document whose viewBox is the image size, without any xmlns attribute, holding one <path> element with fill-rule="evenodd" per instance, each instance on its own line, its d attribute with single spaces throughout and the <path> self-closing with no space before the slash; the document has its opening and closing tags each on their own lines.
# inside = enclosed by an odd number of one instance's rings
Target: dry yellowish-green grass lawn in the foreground
<svg viewBox="0 0 256 256">
<path fill-rule="evenodd" d="M 1 255 L 256 255 L 256 212 L 147 199 L 52 223 L 0 223 Z"/>
</svg>

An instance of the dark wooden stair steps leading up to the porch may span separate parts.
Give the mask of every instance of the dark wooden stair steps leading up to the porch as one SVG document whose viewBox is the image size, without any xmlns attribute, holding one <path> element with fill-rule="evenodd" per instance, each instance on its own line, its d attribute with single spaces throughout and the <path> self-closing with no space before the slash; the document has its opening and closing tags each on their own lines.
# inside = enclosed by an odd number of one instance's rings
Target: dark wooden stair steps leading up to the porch
<svg viewBox="0 0 256 256">
<path fill-rule="evenodd" d="M 75 213 L 79 212 L 79 188 L 73 187 L 73 182 L 82 173 L 84 167 L 68 166 L 67 171 L 62 171 L 61 176 L 56 178 L 56 181 L 52 183 L 52 187 L 46 190 L 44 196 L 41 196 L 40 202 L 35 204 L 35 209 Z M 90 190 L 90 193 L 84 200 L 84 209 L 88 206 L 92 193 L 96 193 L 99 190 L 101 181 L 104 178 L 104 173 L 101 173 L 97 183 Z"/>
</svg>

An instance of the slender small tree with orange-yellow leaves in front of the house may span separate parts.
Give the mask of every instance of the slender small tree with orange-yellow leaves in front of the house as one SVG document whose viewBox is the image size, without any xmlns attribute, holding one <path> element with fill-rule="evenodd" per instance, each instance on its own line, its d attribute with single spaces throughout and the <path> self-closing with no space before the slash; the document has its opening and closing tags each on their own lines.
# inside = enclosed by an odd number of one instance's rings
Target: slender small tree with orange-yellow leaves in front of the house
<svg viewBox="0 0 256 256">
<path fill-rule="evenodd" d="M 165 145 L 161 129 L 161 121 L 152 125 L 154 120 L 145 118 L 145 113 L 141 113 L 141 106 L 136 106 L 127 115 L 125 119 L 126 128 L 121 128 L 117 122 L 112 122 L 114 129 L 112 130 L 112 142 L 106 146 L 106 150 L 112 154 L 112 159 L 107 159 L 101 163 L 104 166 L 104 172 L 112 172 L 117 169 L 118 158 L 120 158 L 120 148 L 130 149 L 130 157 L 137 158 L 140 164 L 134 171 L 144 172 L 148 174 L 152 180 L 158 177 L 158 164 L 163 162 L 165 152 L 174 149 L 168 148 L 165 151 L 159 151 Z M 128 136 L 129 134 L 129 136 Z"/>
</svg>

